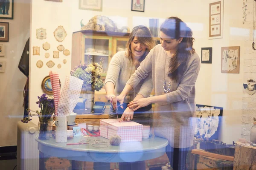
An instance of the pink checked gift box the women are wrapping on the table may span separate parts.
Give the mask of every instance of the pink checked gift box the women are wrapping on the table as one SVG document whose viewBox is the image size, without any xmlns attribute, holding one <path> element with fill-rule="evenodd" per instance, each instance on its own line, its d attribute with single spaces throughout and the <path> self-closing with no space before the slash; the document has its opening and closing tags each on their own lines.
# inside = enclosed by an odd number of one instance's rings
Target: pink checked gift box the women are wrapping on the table
<svg viewBox="0 0 256 170">
<path fill-rule="evenodd" d="M 119 135 L 121 136 L 121 142 L 135 142 L 142 140 L 142 130 L 143 125 L 133 122 L 125 121 L 118 122 L 117 119 L 107 119 L 107 120 L 116 120 L 113 122 L 104 122 L 101 124 L 101 136 L 110 139 L 111 136 Z M 107 125 L 108 123 L 108 125 Z M 103 130 L 103 133 L 102 133 Z"/>
</svg>

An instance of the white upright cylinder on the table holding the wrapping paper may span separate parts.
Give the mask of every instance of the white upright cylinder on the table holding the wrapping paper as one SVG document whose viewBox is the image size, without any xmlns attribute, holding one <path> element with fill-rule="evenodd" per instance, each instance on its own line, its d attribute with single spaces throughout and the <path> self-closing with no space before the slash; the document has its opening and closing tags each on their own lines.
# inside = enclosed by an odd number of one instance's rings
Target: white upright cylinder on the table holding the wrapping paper
<svg viewBox="0 0 256 170">
<path fill-rule="evenodd" d="M 55 142 L 66 143 L 67 142 L 67 117 L 56 116 L 56 131 L 55 131 Z"/>
</svg>

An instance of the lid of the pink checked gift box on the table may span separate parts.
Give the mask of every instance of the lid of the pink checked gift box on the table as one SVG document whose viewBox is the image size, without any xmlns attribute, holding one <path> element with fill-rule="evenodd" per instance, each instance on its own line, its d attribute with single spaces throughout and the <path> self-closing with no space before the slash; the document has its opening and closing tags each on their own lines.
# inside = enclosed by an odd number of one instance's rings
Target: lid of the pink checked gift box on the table
<svg viewBox="0 0 256 170">
<path fill-rule="evenodd" d="M 117 131 L 142 130 L 143 129 L 143 125 L 133 122 L 133 121 L 111 122 L 108 124 L 108 127 L 113 130 L 117 130 Z"/>
</svg>

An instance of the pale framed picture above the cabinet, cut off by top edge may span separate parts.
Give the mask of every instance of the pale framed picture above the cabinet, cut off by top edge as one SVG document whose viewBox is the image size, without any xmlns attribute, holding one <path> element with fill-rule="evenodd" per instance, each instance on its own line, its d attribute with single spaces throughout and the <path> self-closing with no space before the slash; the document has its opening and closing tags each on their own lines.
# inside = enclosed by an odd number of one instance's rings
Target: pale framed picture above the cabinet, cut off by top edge
<svg viewBox="0 0 256 170">
<path fill-rule="evenodd" d="M 79 9 L 102 11 L 103 0 L 79 0 Z"/>
</svg>

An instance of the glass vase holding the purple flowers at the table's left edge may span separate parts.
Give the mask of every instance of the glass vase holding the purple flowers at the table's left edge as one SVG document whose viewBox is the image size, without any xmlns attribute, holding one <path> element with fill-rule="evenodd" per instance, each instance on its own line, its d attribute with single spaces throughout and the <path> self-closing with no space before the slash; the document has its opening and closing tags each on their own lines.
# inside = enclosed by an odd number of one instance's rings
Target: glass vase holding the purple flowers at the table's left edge
<svg viewBox="0 0 256 170">
<path fill-rule="evenodd" d="M 39 121 L 38 122 L 38 139 L 47 140 L 50 139 L 52 124 L 51 121 Z"/>
</svg>

